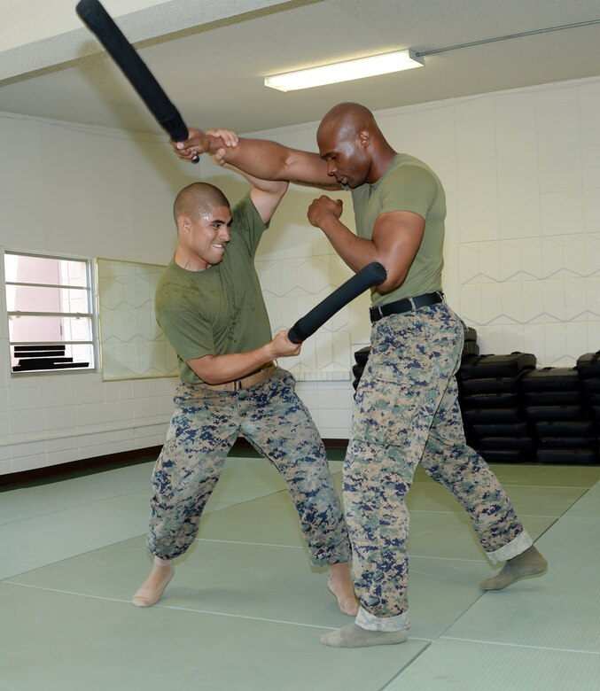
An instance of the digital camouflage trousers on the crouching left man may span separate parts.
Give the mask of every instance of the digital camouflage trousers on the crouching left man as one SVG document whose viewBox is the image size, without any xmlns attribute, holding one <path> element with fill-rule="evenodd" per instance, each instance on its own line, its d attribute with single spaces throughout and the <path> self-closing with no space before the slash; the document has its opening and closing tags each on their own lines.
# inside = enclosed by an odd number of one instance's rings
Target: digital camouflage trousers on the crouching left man
<svg viewBox="0 0 600 691">
<path fill-rule="evenodd" d="M 180 384 L 167 441 L 152 474 L 148 547 L 172 559 L 190 547 L 238 434 L 282 474 L 316 566 L 349 562 L 347 528 L 323 442 L 283 369 L 237 392 Z"/>
</svg>

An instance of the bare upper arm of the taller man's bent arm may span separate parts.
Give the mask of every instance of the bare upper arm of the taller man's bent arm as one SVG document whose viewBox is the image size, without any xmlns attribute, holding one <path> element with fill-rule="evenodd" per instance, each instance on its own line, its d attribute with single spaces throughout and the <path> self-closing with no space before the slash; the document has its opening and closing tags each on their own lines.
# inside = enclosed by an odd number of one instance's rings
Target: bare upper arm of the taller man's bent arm
<svg viewBox="0 0 600 691">
<path fill-rule="evenodd" d="M 409 273 L 412 262 L 425 232 L 425 219 L 411 211 L 393 211 L 379 214 L 372 242 L 377 246 L 381 263 L 386 267 L 384 291 L 397 288 Z"/>
</svg>

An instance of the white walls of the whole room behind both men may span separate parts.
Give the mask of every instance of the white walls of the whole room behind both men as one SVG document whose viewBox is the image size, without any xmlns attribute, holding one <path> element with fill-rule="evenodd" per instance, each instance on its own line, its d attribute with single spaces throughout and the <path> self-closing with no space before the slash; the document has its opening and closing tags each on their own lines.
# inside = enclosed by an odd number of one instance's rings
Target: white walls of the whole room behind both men
<svg viewBox="0 0 600 691">
<path fill-rule="evenodd" d="M 600 348 L 600 78 L 376 113 L 396 150 L 424 159 L 448 195 L 445 290 L 482 353 L 572 366 Z M 218 125 L 219 123 L 209 123 Z M 258 133 L 315 150 L 316 123 Z M 244 186 L 180 164 L 154 137 L 0 117 L 1 245 L 164 263 L 170 206 L 192 175 L 233 200 Z M 350 276 L 308 226 L 314 190 L 293 188 L 257 257 L 274 330 Z M 349 196 L 343 219 L 353 224 Z M 4 299 L 4 296 L 3 296 Z M 346 438 L 352 353 L 368 342 L 362 296 L 286 361 L 326 439 Z M 8 374 L 0 323 L 0 473 L 162 443 L 169 379 Z"/>
</svg>

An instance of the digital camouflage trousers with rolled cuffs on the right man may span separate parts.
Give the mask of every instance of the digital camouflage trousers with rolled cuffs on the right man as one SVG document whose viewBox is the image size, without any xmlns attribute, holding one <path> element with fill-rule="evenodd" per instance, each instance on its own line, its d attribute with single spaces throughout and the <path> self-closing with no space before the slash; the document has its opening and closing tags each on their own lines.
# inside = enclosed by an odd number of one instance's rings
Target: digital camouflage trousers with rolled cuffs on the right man
<svg viewBox="0 0 600 691">
<path fill-rule="evenodd" d="M 375 631 L 409 627 L 409 513 L 404 497 L 417 464 L 448 487 L 492 562 L 525 551 L 523 529 L 487 463 L 466 445 L 456 371 L 464 329 L 446 303 L 373 324 L 344 463 L 344 507 L 361 609 Z"/>
</svg>

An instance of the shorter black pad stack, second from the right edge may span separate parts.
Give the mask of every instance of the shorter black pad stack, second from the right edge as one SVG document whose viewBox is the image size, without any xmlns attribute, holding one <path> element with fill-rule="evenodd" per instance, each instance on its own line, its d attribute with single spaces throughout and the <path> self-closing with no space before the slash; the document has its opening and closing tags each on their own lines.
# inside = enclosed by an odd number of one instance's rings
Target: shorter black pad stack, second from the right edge
<svg viewBox="0 0 600 691">
<path fill-rule="evenodd" d="M 527 419 L 534 425 L 540 463 L 594 463 L 595 425 L 576 368 L 544 367 L 521 379 Z"/>
</svg>

